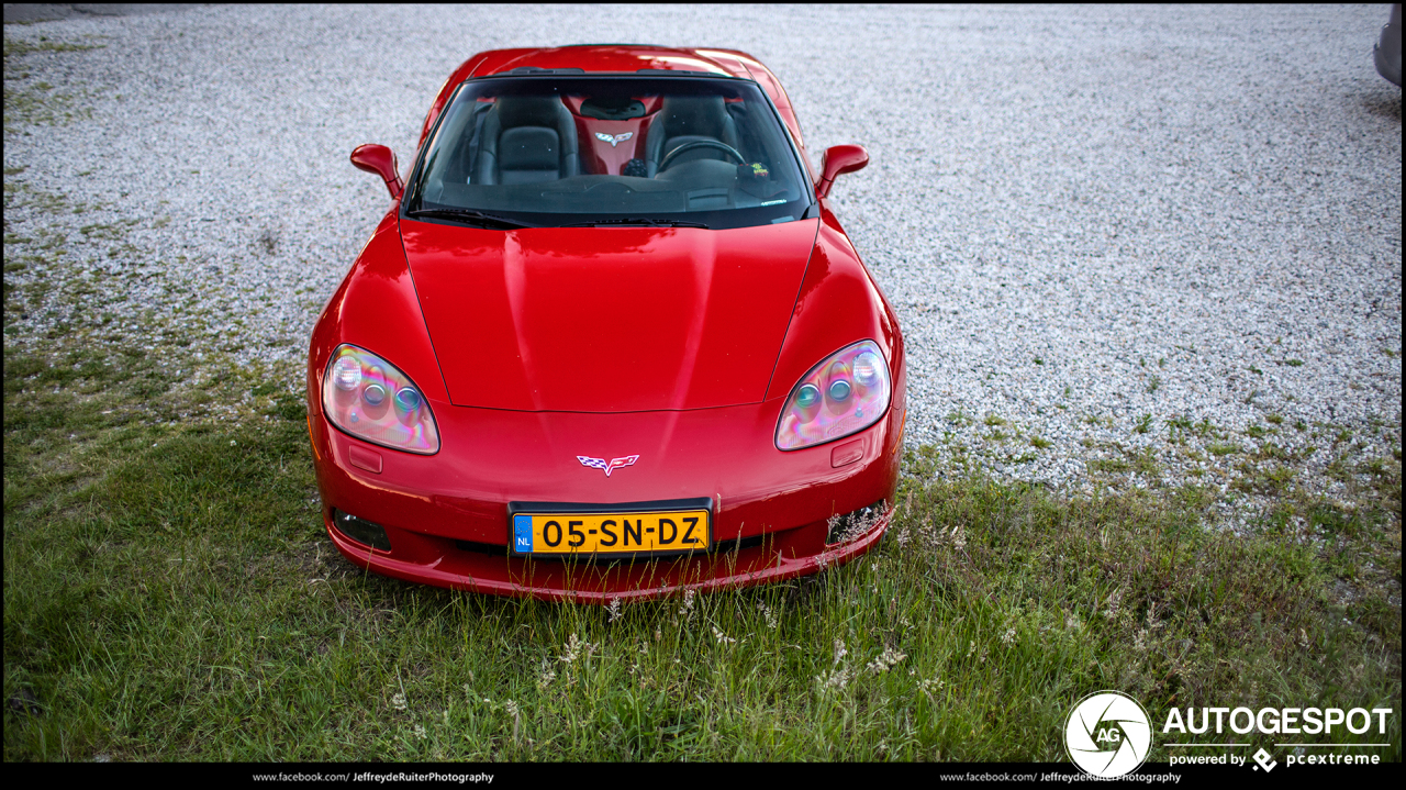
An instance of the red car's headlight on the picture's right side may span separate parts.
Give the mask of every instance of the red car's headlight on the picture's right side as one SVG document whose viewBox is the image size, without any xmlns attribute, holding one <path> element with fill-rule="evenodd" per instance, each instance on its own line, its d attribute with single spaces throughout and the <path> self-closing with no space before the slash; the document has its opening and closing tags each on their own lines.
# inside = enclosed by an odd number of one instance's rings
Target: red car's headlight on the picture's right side
<svg viewBox="0 0 1406 790">
<path fill-rule="evenodd" d="M 841 349 L 796 382 L 776 447 L 800 450 L 860 432 L 889 409 L 889 364 L 873 340 Z"/>
</svg>

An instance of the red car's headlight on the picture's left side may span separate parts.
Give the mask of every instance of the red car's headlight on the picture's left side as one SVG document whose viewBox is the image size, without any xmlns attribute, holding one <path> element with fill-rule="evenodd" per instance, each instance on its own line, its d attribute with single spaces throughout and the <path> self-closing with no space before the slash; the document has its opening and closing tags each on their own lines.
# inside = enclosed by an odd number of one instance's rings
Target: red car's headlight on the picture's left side
<svg viewBox="0 0 1406 790">
<path fill-rule="evenodd" d="M 439 453 L 430 405 L 411 377 L 381 357 L 342 344 L 322 377 L 322 412 L 332 425 L 373 444 L 429 455 Z"/>
</svg>

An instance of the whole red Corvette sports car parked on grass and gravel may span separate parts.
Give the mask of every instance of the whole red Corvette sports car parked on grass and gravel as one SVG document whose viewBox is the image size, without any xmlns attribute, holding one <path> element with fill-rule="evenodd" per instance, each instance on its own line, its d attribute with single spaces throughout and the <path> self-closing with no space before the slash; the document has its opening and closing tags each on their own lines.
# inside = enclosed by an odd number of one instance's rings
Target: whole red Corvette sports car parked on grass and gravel
<svg viewBox="0 0 1406 790">
<path fill-rule="evenodd" d="M 903 336 L 742 52 L 470 58 L 308 351 L 328 536 L 482 593 L 607 602 L 814 574 L 893 512 Z"/>
</svg>

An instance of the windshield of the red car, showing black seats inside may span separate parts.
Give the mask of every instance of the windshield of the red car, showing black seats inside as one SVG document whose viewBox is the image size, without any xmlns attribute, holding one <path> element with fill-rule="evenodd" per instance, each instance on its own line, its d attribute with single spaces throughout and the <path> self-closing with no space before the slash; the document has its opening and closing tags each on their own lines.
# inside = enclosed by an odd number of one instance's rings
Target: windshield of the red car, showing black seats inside
<svg viewBox="0 0 1406 790">
<path fill-rule="evenodd" d="M 485 228 L 742 228 L 811 202 L 770 103 L 731 79 L 470 80 L 412 179 L 408 216 Z"/>
</svg>

